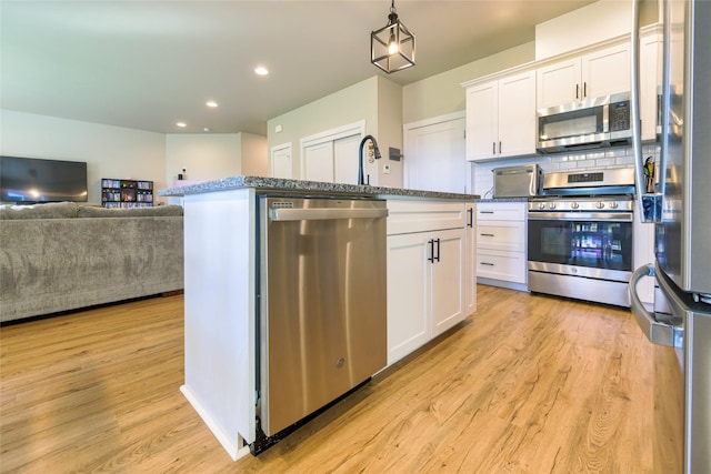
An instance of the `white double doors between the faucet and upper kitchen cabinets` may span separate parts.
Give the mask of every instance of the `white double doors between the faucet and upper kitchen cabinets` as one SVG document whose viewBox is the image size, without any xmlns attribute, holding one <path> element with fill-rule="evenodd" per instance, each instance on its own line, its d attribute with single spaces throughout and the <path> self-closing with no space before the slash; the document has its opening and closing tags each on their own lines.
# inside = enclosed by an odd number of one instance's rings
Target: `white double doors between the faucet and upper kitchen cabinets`
<svg viewBox="0 0 711 474">
<path fill-rule="evenodd" d="M 404 186 L 463 193 L 469 188 L 464 118 L 407 128 Z"/>
</svg>

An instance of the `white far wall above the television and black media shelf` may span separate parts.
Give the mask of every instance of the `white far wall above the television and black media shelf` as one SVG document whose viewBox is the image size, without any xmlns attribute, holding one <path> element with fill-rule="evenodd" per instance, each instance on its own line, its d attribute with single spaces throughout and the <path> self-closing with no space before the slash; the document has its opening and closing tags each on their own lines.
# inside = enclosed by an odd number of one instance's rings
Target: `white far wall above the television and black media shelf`
<svg viewBox="0 0 711 474">
<path fill-rule="evenodd" d="M 166 135 L 99 123 L 0 110 L 0 154 L 86 161 L 88 202 L 101 203 L 101 178 L 166 188 Z M 159 200 L 157 201 L 163 201 Z"/>
</svg>

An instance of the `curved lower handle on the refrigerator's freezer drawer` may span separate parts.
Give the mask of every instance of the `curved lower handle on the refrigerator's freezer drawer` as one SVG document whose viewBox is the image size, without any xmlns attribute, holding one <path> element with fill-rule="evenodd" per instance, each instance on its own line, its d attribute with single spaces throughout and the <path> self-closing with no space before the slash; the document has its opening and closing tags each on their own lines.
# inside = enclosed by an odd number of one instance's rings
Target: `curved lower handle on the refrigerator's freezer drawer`
<svg viewBox="0 0 711 474">
<path fill-rule="evenodd" d="M 630 299 L 632 301 L 632 315 L 637 321 L 644 335 L 654 344 L 669 345 L 671 347 L 681 347 L 683 343 L 683 329 L 674 324 L 660 322 L 667 319 L 647 311 L 640 296 L 637 294 L 637 283 L 644 276 L 655 276 L 654 265 L 648 263 L 640 266 L 630 276 Z"/>
</svg>

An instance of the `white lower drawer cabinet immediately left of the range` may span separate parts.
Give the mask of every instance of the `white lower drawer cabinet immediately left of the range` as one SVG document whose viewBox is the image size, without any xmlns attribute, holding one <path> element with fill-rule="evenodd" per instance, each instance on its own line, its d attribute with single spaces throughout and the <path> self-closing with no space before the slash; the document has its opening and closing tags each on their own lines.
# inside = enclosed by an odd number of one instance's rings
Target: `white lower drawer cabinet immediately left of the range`
<svg viewBox="0 0 711 474">
<path fill-rule="evenodd" d="M 527 202 L 477 204 L 477 276 L 480 283 L 525 290 Z"/>
</svg>

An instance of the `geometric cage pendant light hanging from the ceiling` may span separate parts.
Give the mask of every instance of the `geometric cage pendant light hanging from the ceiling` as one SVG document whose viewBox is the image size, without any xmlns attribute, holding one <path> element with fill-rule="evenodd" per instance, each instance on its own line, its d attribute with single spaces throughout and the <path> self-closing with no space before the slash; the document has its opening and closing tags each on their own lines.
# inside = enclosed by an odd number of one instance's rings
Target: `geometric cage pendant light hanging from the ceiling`
<svg viewBox="0 0 711 474">
<path fill-rule="evenodd" d="M 388 24 L 370 33 L 370 62 L 389 74 L 414 65 L 414 34 L 398 19 L 395 0 Z"/>
</svg>

